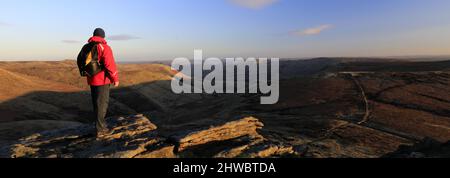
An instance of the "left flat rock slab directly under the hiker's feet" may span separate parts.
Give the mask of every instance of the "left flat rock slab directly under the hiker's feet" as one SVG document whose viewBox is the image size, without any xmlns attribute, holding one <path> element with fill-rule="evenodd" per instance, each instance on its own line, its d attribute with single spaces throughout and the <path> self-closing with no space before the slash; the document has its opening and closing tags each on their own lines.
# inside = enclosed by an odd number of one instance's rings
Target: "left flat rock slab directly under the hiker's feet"
<svg viewBox="0 0 450 178">
<path fill-rule="evenodd" d="M 96 138 L 91 125 L 34 134 L 2 149 L 11 158 L 133 158 L 164 142 L 157 127 L 142 115 L 110 118 L 111 135 Z M 148 153 L 147 153 L 148 154 Z"/>
</svg>

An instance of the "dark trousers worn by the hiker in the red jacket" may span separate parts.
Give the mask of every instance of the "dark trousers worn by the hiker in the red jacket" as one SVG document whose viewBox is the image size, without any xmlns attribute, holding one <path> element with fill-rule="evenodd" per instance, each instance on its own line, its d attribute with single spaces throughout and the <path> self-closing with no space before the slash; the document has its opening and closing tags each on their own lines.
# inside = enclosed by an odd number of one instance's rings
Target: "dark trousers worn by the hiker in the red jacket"
<svg viewBox="0 0 450 178">
<path fill-rule="evenodd" d="M 109 85 L 91 86 L 92 103 L 94 105 L 95 126 L 97 131 L 107 130 L 106 113 L 109 105 Z"/>
</svg>

